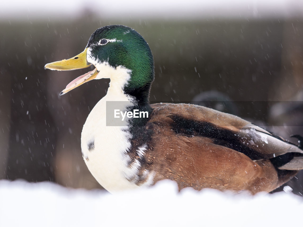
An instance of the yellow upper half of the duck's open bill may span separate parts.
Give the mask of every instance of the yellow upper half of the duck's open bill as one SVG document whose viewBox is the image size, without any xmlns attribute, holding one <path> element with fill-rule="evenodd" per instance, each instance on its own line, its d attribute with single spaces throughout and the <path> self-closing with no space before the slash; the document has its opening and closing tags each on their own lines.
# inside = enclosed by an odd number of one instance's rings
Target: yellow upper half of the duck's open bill
<svg viewBox="0 0 303 227">
<path fill-rule="evenodd" d="M 86 54 L 87 54 L 87 49 L 76 55 L 73 58 L 70 59 L 63 59 L 62 61 L 55 61 L 52 63 L 48 63 L 44 66 L 46 69 L 51 69 L 51 70 L 74 70 L 74 69 L 83 69 L 86 67 L 89 67 L 91 63 L 87 62 L 86 59 Z"/>
</svg>

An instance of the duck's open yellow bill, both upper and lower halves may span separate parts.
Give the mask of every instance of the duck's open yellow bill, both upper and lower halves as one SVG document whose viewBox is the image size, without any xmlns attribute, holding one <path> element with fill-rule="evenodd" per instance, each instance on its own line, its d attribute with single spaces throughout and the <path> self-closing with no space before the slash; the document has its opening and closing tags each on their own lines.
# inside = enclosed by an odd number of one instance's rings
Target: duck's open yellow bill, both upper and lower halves
<svg viewBox="0 0 303 227">
<path fill-rule="evenodd" d="M 82 53 L 76 55 L 73 58 L 48 63 L 44 66 L 44 68 L 58 71 L 87 68 L 91 65 L 91 63 L 88 63 L 86 59 L 87 49 L 88 48 L 85 48 Z M 60 95 L 67 93 L 68 91 L 80 86 L 81 84 L 86 83 L 87 81 L 95 79 L 98 73 L 99 71 L 95 68 L 93 71 L 77 77 L 75 80 L 70 82 L 62 92 L 60 92 Z"/>
</svg>

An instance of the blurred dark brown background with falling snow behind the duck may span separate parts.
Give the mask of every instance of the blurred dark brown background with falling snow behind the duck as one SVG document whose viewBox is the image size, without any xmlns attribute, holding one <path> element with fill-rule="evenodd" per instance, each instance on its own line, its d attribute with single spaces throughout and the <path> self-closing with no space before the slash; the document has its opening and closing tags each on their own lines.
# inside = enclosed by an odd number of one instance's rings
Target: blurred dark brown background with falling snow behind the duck
<svg viewBox="0 0 303 227">
<path fill-rule="evenodd" d="M 79 54 L 97 28 L 113 24 L 150 45 L 151 103 L 206 105 L 298 144 L 290 135 L 303 135 L 302 1 L 2 1 L 0 179 L 102 188 L 80 137 L 109 80 L 59 96 L 88 70 L 44 65 Z M 302 195 L 303 173 L 287 184 Z"/>
</svg>

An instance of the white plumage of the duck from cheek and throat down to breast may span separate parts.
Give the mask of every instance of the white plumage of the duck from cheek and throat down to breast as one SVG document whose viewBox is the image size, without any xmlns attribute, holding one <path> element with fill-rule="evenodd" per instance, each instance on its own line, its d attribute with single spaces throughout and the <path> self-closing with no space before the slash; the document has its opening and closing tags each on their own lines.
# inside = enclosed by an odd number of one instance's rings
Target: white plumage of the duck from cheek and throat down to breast
<svg viewBox="0 0 303 227">
<path fill-rule="evenodd" d="M 89 55 L 87 59 L 92 63 Z M 140 165 L 136 162 L 128 165 L 127 155 L 131 147 L 128 126 L 106 126 L 106 102 L 122 101 L 120 110 L 132 103 L 133 99 L 125 95 L 122 88 L 131 76 L 132 71 L 123 67 L 111 67 L 103 62 L 95 66 L 100 71 L 96 79 L 110 78 L 110 86 L 103 97 L 88 115 L 81 134 L 81 149 L 84 161 L 95 179 L 109 192 L 134 189 L 138 186 L 130 179 L 138 174 Z M 123 106 L 125 105 L 125 106 Z M 127 124 L 125 124 L 127 125 Z M 153 173 L 146 171 L 147 181 L 141 185 L 149 186 L 153 183 Z"/>
</svg>

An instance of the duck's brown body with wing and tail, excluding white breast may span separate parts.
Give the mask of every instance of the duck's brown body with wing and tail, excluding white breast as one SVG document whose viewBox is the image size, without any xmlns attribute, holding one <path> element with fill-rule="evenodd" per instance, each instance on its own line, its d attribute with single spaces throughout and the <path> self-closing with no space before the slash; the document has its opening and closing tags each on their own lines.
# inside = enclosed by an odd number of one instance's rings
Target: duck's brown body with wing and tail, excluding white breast
<svg viewBox="0 0 303 227">
<path fill-rule="evenodd" d="M 180 189 L 270 192 L 303 169 L 301 149 L 239 117 L 190 104 L 151 107 L 129 152 L 140 162 L 138 185 L 152 173 L 154 183 L 172 179 Z"/>
</svg>

